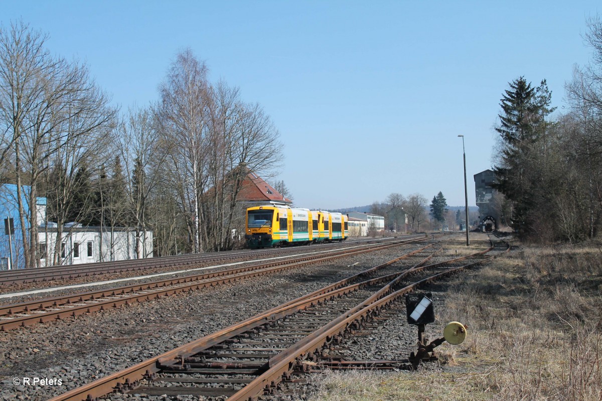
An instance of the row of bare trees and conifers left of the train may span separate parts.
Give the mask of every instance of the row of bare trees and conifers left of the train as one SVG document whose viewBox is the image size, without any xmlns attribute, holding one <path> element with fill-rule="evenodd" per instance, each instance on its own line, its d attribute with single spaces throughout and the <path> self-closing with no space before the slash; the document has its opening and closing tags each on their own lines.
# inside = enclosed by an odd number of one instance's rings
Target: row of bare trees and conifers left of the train
<svg viewBox="0 0 602 401">
<path fill-rule="evenodd" d="M 210 82 L 186 49 L 169 64 L 158 102 L 120 111 L 86 64 L 52 55 L 47 41 L 22 21 L 0 26 L 0 183 L 19 191 L 25 266 L 40 264 L 36 197 L 47 198 L 59 238 L 76 221 L 132 227 L 137 238 L 152 230 L 155 256 L 231 248 L 244 178 L 282 160 L 261 106 Z M 48 265 L 60 263 L 61 246 L 49 249 Z"/>
</svg>

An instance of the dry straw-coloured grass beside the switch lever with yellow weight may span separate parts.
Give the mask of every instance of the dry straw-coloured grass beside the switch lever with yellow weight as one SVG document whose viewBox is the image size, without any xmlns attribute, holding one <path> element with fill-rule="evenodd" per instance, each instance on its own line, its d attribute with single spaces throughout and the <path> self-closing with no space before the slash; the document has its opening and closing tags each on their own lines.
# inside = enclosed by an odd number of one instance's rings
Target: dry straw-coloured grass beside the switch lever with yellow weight
<svg viewBox="0 0 602 401">
<path fill-rule="evenodd" d="M 438 325 L 438 372 L 327 373 L 312 400 L 602 400 L 600 248 L 523 248 L 458 275 Z"/>
</svg>

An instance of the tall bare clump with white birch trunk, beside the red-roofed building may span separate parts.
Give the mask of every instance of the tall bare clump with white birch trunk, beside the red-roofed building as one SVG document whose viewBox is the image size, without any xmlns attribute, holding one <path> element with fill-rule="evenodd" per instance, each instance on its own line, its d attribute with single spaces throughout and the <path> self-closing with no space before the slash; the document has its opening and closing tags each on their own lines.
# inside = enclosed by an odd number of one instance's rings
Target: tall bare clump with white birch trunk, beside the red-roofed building
<svg viewBox="0 0 602 401">
<path fill-rule="evenodd" d="M 190 50 L 178 54 L 158 108 L 193 252 L 231 248 L 244 216 L 238 199 L 244 179 L 282 159 L 278 130 L 263 109 L 242 102 L 238 88 L 223 81 L 209 84 L 206 75 Z"/>
</svg>

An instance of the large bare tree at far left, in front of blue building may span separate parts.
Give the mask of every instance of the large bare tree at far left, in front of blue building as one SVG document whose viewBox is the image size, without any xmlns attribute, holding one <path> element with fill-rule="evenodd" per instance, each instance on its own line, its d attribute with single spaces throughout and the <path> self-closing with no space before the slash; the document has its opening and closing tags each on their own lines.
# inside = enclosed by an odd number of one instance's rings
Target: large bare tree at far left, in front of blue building
<svg viewBox="0 0 602 401">
<path fill-rule="evenodd" d="M 43 175 L 56 168 L 53 159 L 67 147 L 74 155 L 98 155 L 92 139 L 102 136 L 114 115 L 87 67 L 51 57 L 45 41 L 45 35 L 22 22 L 0 28 L 0 120 L 5 126 L 0 162 L 10 157 L 14 165 L 26 267 L 39 265 L 36 200 Z M 75 144 L 84 141 L 83 147 Z M 75 170 L 73 160 L 65 162 Z M 29 191 L 24 193 L 23 186 Z"/>
</svg>

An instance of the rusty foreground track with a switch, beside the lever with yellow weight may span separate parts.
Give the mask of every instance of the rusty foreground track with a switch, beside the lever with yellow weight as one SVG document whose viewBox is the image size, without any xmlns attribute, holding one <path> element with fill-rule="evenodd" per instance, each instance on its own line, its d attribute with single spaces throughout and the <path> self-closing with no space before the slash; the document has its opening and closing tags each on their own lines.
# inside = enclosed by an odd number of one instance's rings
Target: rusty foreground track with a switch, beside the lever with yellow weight
<svg viewBox="0 0 602 401">
<path fill-rule="evenodd" d="M 309 371 L 323 358 L 332 358 L 330 349 L 344 336 L 391 316 L 391 308 L 406 293 L 486 262 L 496 256 L 488 256 L 491 251 L 508 250 L 506 243 L 492 242 L 482 252 L 427 265 L 438 249 L 424 246 L 51 401 L 110 399 L 107 394 L 114 391 L 226 396 L 229 401 L 273 395 L 295 380 L 294 372 Z M 411 267 L 396 271 L 394 263 L 409 258 Z"/>
</svg>

